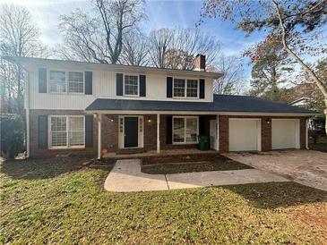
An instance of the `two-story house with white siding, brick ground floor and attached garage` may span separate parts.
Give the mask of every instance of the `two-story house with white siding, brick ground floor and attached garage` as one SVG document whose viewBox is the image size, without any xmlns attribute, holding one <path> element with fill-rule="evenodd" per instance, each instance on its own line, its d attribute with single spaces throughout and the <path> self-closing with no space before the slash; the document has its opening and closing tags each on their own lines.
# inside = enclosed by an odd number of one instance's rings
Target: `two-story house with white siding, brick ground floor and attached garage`
<svg viewBox="0 0 327 245">
<path fill-rule="evenodd" d="M 27 155 L 196 148 L 219 152 L 305 148 L 314 113 L 257 97 L 213 95 L 205 56 L 194 71 L 6 57 L 28 72 Z"/>
</svg>

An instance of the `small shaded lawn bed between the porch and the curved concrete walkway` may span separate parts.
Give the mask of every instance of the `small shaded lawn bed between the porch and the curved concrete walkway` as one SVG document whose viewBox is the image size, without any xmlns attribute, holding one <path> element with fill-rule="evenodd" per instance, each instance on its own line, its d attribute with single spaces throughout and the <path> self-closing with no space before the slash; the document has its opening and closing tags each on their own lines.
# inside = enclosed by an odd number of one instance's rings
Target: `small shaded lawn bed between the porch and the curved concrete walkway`
<svg viewBox="0 0 327 245">
<path fill-rule="evenodd" d="M 192 157 L 192 156 L 191 156 Z M 153 158 L 152 160 L 142 161 L 141 171 L 150 174 L 169 174 L 169 173 L 192 173 L 204 171 L 226 171 L 253 168 L 249 165 L 243 165 L 226 156 L 209 155 L 197 158 L 202 161 L 192 162 L 194 159 L 179 160 L 178 156 L 171 159 L 171 162 L 165 160 L 163 163 L 160 159 Z M 196 160 L 196 159 L 195 159 Z"/>
</svg>

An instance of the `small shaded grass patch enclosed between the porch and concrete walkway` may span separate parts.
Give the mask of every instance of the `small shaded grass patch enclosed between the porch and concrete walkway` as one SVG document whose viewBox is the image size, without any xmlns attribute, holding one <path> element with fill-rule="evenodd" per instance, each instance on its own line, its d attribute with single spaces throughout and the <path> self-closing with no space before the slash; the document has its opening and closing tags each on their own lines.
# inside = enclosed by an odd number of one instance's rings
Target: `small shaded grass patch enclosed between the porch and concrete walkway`
<svg viewBox="0 0 327 245">
<path fill-rule="evenodd" d="M 248 165 L 240 164 L 225 156 L 211 157 L 210 161 L 185 162 L 183 164 L 142 165 L 141 171 L 150 174 L 169 174 L 169 173 L 192 173 L 204 171 L 226 171 L 253 168 Z"/>
</svg>

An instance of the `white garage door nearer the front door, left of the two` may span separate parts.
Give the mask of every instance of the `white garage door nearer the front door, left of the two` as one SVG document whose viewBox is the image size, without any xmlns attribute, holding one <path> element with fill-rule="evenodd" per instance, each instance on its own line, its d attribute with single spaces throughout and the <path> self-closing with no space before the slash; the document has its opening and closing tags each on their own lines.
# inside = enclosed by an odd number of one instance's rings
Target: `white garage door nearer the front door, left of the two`
<svg viewBox="0 0 327 245">
<path fill-rule="evenodd" d="M 229 151 L 261 150 L 260 119 L 229 119 Z"/>
</svg>

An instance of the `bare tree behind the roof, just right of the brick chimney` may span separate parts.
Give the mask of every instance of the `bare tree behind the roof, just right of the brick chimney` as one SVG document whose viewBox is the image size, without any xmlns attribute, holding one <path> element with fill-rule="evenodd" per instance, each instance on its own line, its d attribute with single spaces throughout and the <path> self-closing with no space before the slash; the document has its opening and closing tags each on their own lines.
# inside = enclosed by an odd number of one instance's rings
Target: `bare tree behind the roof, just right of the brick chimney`
<svg viewBox="0 0 327 245">
<path fill-rule="evenodd" d="M 238 95 L 245 81 L 242 59 L 237 56 L 220 55 L 211 72 L 223 72 L 219 80 L 213 81 L 213 92 L 218 95 Z"/>
</svg>

